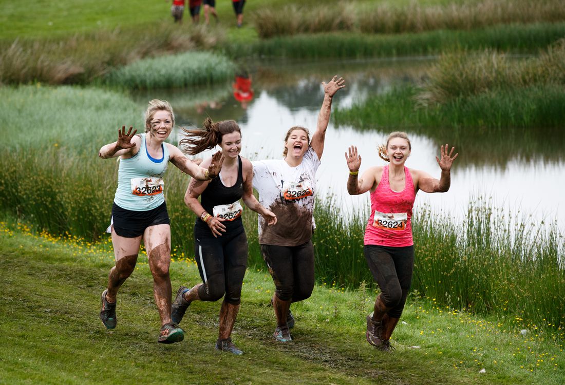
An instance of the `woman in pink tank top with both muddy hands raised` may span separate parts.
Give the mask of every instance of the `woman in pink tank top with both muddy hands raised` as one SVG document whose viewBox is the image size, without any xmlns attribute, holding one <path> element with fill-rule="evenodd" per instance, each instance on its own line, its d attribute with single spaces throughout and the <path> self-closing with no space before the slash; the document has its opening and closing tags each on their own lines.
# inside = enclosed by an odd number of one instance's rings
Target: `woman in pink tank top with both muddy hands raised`
<svg viewBox="0 0 565 385">
<path fill-rule="evenodd" d="M 345 154 L 350 195 L 371 192 L 371 216 L 364 237 L 364 254 L 371 273 L 381 288 L 373 312 L 367 316 L 367 342 L 390 351 L 390 336 L 406 303 L 414 270 L 414 243 L 412 242 L 412 206 L 418 190 L 425 193 L 445 193 L 451 184 L 451 164 L 459 154 L 454 147 L 441 146 L 439 180 L 428 173 L 405 167 L 411 151 L 406 133 L 393 132 L 386 146 L 379 147 L 379 156 L 388 161 L 385 166 L 374 166 L 358 179 L 361 157 L 357 147 L 351 146 Z"/>
</svg>

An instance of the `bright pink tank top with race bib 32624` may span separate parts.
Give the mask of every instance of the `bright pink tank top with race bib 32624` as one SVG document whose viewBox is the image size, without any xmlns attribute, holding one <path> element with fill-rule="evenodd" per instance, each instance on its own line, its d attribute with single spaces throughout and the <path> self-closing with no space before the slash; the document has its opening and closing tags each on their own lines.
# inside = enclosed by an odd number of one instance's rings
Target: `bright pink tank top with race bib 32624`
<svg viewBox="0 0 565 385">
<path fill-rule="evenodd" d="M 390 189 L 388 165 L 383 167 L 379 186 L 371 193 L 371 216 L 365 229 L 364 244 L 377 246 L 412 246 L 412 207 L 416 199 L 414 182 L 407 167 L 406 183 L 397 193 Z"/>
</svg>

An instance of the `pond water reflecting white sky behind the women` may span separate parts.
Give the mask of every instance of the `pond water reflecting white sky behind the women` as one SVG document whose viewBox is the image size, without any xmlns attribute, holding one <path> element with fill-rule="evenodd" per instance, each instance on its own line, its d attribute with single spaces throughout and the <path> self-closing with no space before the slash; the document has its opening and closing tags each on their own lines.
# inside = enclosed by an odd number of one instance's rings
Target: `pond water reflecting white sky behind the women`
<svg viewBox="0 0 565 385">
<path fill-rule="evenodd" d="M 231 84 L 194 90 L 151 91 L 137 94 L 135 98 L 140 103 L 155 97 L 169 100 L 176 113 L 177 126 L 202 126 L 206 116 L 214 121 L 236 120 L 242 129 L 242 155 L 252 160 L 278 158 L 282 154 L 282 139 L 291 126 L 302 125 L 314 132 L 323 100 L 321 81 L 329 81 L 333 75 L 344 77 L 347 87 L 338 91 L 333 108 L 347 107 L 394 85 L 421 81 L 434 60 L 248 63 L 254 95 L 246 106 L 234 98 Z M 351 126 L 336 127 L 330 120 L 317 174 L 319 196 L 332 194 L 328 199 L 337 200 L 349 212 L 366 207 L 368 194 L 347 194 L 348 169 L 344 153 L 350 145 L 358 147 L 363 159 L 361 172 L 371 165 L 383 165 L 376 147 L 385 142 L 392 130 L 360 132 Z M 470 200 L 484 197 L 494 208 L 520 213 L 534 224 L 557 221 L 564 229 L 565 146 L 562 143 L 565 143 L 565 133 L 554 130 L 547 135 L 541 129 L 533 132 L 527 140 L 514 138 L 511 143 L 515 147 L 503 149 L 505 138 L 496 139 L 501 141 L 500 148 L 492 141 L 485 147 L 469 146 L 470 143 L 464 143 L 464 138 L 440 139 L 433 132 L 426 135 L 408 131 L 412 153 L 406 162 L 407 167 L 425 170 L 434 177 L 440 177 L 435 159 L 440 152 L 440 143 L 446 142 L 462 150 L 451 172 L 450 190 L 444 194 L 420 192 L 416 209 L 428 204 L 434 212 L 463 218 Z M 466 148 L 469 148 L 467 154 L 464 153 Z"/>
</svg>

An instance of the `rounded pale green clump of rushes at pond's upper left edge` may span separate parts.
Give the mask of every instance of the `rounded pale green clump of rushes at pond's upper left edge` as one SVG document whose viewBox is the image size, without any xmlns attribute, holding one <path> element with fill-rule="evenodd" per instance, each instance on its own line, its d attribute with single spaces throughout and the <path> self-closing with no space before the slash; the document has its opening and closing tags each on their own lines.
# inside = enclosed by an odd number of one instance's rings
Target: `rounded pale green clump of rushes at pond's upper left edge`
<svg viewBox="0 0 565 385">
<path fill-rule="evenodd" d="M 190 51 L 138 60 L 110 72 L 106 82 L 129 89 L 171 89 L 227 81 L 235 71 L 223 55 Z"/>
</svg>

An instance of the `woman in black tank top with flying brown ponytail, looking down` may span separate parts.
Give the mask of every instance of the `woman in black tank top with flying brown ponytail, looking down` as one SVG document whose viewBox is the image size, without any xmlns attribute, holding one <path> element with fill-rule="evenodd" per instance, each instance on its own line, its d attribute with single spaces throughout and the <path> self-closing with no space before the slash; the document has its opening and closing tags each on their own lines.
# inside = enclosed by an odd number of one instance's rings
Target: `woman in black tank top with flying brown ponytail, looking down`
<svg viewBox="0 0 565 385">
<path fill-rule="evenodd" d="M 219 145 L 224 154 L 221 173 L 211 181 L 191 180 L 184 202 L 197 215 L 194 226 L 194 255 L 203 283 L 177 290 L 171 318 L 179 323 L 194 300 L 217 301 L 220 308 L 220 331 L 216 349 L 236 355 L 242 351 L 233 344 L 231 333 L 241 303 L 241 286 L 247 268 L 247 238 L 241 220 L 240 199 L 262 215 L 268 224 L 276 216 L 259 204 L 253 195 L 253 166 L 242 158 L 241 130 L 233 120 L 213 124 L 210 118 L 203 130 L 185 130 L 181 144 L 191 155 Z M 202 167 L 210 159 L 202 162 Z M 201 202 L 198 202 L 201 196 Z"/>
</svg>

